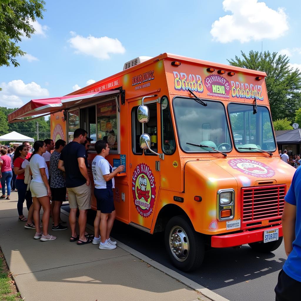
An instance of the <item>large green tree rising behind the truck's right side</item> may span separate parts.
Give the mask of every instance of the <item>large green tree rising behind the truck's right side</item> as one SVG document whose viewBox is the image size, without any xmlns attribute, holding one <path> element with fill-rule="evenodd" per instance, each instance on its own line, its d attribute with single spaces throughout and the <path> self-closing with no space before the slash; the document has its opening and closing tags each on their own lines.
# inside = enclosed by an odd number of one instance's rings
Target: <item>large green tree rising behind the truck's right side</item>
<svg viewBox="0 0 301 301">
<path fill-rule="evenodd" d="M 289 67 L 286 55 L 272 54 L 269 51 L 258 52 L 251 50 L 249 54 L 241 51 L 242 59 L 228 60 L 236 67 L 263 71 L 267 74 L 265 84 L 268 92 L 272 119 L 284 116 L 293 120 L 296 108 L 301 104 L 301 72 Z"/>
</svg>

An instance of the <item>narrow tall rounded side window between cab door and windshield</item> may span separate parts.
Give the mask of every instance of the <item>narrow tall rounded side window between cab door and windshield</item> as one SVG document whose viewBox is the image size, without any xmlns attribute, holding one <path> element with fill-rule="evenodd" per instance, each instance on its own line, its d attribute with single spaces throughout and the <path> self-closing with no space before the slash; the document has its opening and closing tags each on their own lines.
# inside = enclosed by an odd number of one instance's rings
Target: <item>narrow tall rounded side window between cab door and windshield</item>
<svg viewBox="0 0 301 301">
<path fill-rule="evenodd" d="M 161 98 L 161 130 L 162 150 L 170 155 L 175 152 L 175 134 L 172 128 L 169 102 L 166 96 Z"/>
</svg>

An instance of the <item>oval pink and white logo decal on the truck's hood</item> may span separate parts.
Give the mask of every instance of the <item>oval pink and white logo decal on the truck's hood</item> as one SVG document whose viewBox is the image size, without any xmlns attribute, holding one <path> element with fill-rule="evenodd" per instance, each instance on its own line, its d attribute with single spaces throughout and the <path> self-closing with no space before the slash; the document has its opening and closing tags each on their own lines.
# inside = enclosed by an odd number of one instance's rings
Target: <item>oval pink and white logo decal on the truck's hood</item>
<svg viewBox="0 0 301 301">
<path fill-rule="evenodd" d="M 271 167 L 256 160 L 232 159 L 228 163 L 232 168 L 246 175 L 253 175 L 259 178 L 270 178 L 275 175 L 275 171 Z"/>
</svg>

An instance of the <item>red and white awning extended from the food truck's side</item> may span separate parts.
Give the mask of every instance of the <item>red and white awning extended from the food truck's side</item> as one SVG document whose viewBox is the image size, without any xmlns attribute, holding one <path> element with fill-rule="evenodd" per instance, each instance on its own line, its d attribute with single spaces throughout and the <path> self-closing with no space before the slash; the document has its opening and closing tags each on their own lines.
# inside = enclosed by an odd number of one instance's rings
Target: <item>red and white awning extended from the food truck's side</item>
<svg viewBox="0 0 301 301">
<path fill-rule="evenodd" d="M 72 107 L 78 107 L 92 102 L 95 97 L 116 94 L 119 93 L 119 91 L 120 90 L 118 89 L 107 92 L 94 92 L 54 98 L 32 99 L 27 104 L 24 104 L 23 107 L 20 107 L 14 112 L 8 114 L 8 123 L 28 121 L 30 119 L 46 116 L 62 110 L 70 109 Z M 24 117 L 32 118 L 24 119 Z"/>
</svg>

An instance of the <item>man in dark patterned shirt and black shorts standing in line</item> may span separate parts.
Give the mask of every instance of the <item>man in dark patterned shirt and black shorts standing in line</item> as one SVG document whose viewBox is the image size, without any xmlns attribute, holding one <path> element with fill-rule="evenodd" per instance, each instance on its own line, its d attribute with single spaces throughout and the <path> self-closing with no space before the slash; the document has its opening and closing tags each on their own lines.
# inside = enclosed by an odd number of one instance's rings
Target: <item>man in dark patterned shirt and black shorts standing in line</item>
<svg viewBox="0 0 301 301">
<path fill-rule="evenodd" d="M 66 146 L 66 141 L 59 139 L 55 142 L 55 150 L 50 157 L 50 189 L 53 208 L 52 231 L 67 230 L 68 227 L 60 223 L 61 206 L 66 200 L 66 182 L 64 172 L 57 168 L 61 151 Z"/>
</svg>

